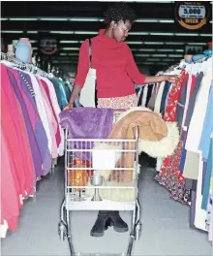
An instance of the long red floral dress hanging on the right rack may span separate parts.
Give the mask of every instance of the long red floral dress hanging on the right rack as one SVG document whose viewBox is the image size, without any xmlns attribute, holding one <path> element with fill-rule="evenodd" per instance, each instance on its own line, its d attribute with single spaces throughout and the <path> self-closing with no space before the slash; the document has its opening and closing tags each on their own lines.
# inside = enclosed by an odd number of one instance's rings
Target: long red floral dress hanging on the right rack
<svg viewBox="0 0 213 256">
<path fill-rule="evenodd" d="M 167 108 L 164 116 L 164 120 L 167 122 L 176 121 L 177 101 L 185 76 L 186 73 L 183 69 L 168 95 Z M 170 197 L 172 199 L 186 204 L 189 201 L 189 190 L 185 189 L 185 178 L 179 171 L 182 147 L 183 142 L 180 141 L 174 153 L 164 159 L 161 171 L 155 179 L 171 192 Z"/>
</svg>

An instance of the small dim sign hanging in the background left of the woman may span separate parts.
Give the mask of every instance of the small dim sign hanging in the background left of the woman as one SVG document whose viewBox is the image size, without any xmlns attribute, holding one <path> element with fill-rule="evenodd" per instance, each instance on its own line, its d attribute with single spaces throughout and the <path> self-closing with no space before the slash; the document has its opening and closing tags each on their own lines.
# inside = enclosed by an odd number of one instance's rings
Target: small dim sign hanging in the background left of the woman
<svg viewBox="0 0 213 256">
<path fill-rule="evenodd" d="M 58 50 L 56 39 L 44 38 L 40 40 L 40 50 L 46 55 L 52 55 Z"/>
</svg>

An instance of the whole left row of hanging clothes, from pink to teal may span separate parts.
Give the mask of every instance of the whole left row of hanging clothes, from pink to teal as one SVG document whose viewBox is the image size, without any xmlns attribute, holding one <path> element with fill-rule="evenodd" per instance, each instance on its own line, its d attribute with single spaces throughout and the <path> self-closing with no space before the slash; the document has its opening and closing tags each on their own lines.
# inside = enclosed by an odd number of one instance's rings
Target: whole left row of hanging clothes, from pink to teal
<svg viewBox="0 0 213 256">
<path fill-rule="evenodd" d="M 5 59 L 0 63 L 1 238 L 8 229 L 16 230 L 23 201 L 34 196 L 36 181 L 64 154 L 58 116 L 70 97 L 61 80 L 38 69 L 35 75 L 17 60 Z"/>
</svg>

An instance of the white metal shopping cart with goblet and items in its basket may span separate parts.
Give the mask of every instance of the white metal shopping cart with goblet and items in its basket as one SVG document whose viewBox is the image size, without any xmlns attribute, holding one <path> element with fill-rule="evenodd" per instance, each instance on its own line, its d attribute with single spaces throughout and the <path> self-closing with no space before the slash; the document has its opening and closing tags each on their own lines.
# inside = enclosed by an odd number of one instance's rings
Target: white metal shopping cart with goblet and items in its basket
<svg viewBox="0 0 213 256">
<path fill-rule="evenodd" d="M 122 112 L 124 111 L 114 111 L 114 121 Z M 131 210 L 133 214 L 129 243 L 126 253 L 119 254 L 131 256 L 134 241 L 139 240 L 141 234 L 137 198 L 137 130 L 134 140 L 74 140 L 69 139 L 68 129 L 65 138 L 65 199 L 58 224 L 60 239 L 65 240 L 67 237 L 72 256 L 83 255 L 75 251 L 72 240 L 70 215 L 73 210 Z M 107 149 L 97 149 L 97 144 L 105 144 Z M 128 157 L 133 160 L 131 166 L 126 163 Z M 127 178 L 126 174 L 130 182 L 123 182 Z M 113 180 L 113 186 L 110 181 L 106 182 L 106 178 Z"/>
</svg>

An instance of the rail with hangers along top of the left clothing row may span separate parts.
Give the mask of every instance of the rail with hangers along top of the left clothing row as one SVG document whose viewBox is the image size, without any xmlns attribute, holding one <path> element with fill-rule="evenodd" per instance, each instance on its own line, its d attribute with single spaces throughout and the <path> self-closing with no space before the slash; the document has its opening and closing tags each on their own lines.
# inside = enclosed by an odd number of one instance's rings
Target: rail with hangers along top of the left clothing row
<svg viewBox="0 0 213 256">
<path fill-rule="evenodd" d="M 3 62 L 3 63 L 6 62 L 7 64 L 10 63 L 10 64 L 12 64 L 13 67 L 16 67 L 16 68 L 24 70 L 24 71 L 28 71 L 32 74 L 39 75 L 39 76 L 47 78 L 47 79 L 52 79 L 54 77 L 51 73 L 46 73 L 45 71 L 41 70 L 37 66 L 35 66 L 33 64 L 24 63 L 18 59 L 15 59 L 15 56 L 9 55 L 4 52 L 1 52 L 1 62 Z"/>
</svg>

